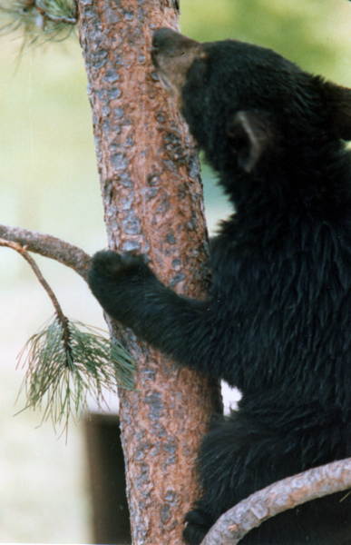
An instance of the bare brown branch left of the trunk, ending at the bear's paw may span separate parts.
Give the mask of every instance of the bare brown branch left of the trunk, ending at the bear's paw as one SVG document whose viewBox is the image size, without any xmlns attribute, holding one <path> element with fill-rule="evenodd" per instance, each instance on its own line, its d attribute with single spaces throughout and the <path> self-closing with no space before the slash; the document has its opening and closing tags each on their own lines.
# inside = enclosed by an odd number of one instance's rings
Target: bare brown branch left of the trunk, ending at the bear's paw
<svg viewBox="0 0 351 545">
<path fill-rule="evenodd" d="M 54 259 L 78 272 L 87 282 L 87 273 L 91 256 L 73 244 L 65 243 L 49 234 L 37 233 L 19 227 L 0 225 L 0 237 L 5 241 L 19 243 L 29 252 L 39 253 L 44 257 Z"/>
</svg>

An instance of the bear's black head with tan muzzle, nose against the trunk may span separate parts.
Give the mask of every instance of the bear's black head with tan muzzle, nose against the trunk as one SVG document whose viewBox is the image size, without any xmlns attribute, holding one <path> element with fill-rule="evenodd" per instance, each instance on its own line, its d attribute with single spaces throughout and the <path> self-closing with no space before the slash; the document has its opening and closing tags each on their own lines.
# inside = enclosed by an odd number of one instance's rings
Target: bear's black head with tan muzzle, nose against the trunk
<svg viewBox="0 0 351 545">
<path fill-rule="evenodd" d="M 351 90 L 269 49 L 236 40 L 200 44 L 160 28 L 151 57 L 219 173 L 253 176 L 283 163 L 288 170 L 351 140 Z"/>
</svg>

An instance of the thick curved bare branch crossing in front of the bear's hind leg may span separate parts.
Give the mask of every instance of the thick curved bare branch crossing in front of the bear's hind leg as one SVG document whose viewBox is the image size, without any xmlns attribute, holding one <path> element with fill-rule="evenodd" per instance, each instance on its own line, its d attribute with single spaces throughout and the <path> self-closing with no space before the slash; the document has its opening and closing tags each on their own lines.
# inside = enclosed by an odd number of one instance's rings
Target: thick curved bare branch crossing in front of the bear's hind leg
<svg viewBox="0 0 351 545">
<path fill-rule="evenodd" d="M 334 461 L 251 494 L 224 513 L 201 545 L 237 545 L 250 530 L 306 501 L 351 488 L 351 458 Z"/>
</svg>

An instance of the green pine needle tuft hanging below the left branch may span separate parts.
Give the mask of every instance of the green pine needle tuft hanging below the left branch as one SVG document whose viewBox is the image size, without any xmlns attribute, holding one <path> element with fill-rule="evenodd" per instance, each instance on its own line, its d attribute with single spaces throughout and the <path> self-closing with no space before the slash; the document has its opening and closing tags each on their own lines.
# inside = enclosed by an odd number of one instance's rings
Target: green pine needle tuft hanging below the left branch
<svg viewBox="0 0 351 545">
<path fill-rule="evenodd" d="M 81 322 L 63 327 L 57 315 L 29 339 L 18 359 L 28 367 L 19 392 L 26 393 L 24 409 L 44 406 L 42 422 L 51 418 L 54 428 L 64 423 L 67 429 L 73 413 L 79 418 L 88 394 L 101 407 L 106 389 L 134 387 L 136 364 L 121 343 Z"/>
</svg>

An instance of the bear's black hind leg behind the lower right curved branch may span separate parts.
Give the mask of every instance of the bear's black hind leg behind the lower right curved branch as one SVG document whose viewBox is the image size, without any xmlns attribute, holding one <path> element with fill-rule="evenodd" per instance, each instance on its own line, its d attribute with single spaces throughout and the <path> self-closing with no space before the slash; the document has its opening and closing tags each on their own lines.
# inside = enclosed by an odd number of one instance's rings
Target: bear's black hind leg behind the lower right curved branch
<svg viewBox="0 0 351 545">
<path fill-rule="evenodd" d="M 304 437 L 301 431 L 288 431 L 288 425 L 284 434 L 277 432 L 241 410 L 219 421 L 200 446 L 202 497 L 186 515 L 185 542 L 200 545 L 220 515 L 253 492 L 315 465 L 346 457 L 347 451 L 323 452 L 316 437 L 318 429 L 309 430 Z M 314 445 L 310 463 L 302 461 L 301 450 L 306 444 Z M 284 511 L 242 540 L 243 545 L 306 543 L 351 545 L 351 496 L 333 494 Z"/>
</svg>

